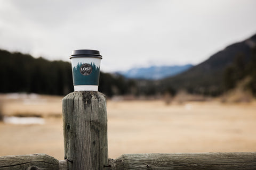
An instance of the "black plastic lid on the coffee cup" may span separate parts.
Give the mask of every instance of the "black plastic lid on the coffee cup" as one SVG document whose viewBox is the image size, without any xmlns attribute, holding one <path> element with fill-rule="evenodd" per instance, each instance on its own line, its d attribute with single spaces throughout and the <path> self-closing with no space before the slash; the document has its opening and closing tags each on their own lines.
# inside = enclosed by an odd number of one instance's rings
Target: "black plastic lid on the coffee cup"
<svg viewBox="0 0 256 170">
<path fill-rule="evenodd" d="M 96 57 L 102 59 L 102 56 L 100 55 L 100 52 L 98 50 L 93 49 L 77 49 L 72 52 L 72 55 L 70 55 L 70 59 L 74 57 Z"/>
</svg>

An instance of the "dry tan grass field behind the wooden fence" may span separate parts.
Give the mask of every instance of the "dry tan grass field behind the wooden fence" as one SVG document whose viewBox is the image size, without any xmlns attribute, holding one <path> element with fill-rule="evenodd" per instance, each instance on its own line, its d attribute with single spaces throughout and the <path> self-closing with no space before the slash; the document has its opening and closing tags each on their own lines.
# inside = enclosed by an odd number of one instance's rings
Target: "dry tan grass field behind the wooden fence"
<svg viewBox="0 0 256 170">
<path fill-rule="evenodd" d="M 0 95 L 6 116 L 41 116 L 44 124 L 0 122 L 0 156 L 45 153 L 64 158 L 62 97 Z M 146 152 L 256 151 L 256 102 L 107 101 L 109 157 Z"/>
</svg>

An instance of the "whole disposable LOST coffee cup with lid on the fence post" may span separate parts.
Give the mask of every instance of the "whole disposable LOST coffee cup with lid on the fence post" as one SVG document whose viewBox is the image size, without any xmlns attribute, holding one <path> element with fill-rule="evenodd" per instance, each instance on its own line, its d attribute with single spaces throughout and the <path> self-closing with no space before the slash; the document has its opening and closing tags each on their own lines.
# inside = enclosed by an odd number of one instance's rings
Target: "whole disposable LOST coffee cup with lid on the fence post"
<svg viewBox="0 0 256 170">
<path fill-rule="evenodd" d="M 72 52 L 71 59 L 75 91 L 98 91 L 100 61 L 98 50 L 78 49 Z"/>
</svg>

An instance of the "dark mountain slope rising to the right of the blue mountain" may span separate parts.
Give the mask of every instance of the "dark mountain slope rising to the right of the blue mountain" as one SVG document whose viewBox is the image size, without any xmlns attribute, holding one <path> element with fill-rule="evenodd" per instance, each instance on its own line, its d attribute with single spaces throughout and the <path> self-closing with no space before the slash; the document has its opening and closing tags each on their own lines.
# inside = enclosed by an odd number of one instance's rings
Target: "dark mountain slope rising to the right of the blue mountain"
<svg viewBox="0 0 256 170">
<path fill-rule="evenodd" d="M 191 93 L 219 95 L 224 90 L 223 75 L 227 67 L 232 65 L 237 58 L 240 58 L 239 62 L 242 65 L 246 65 L 251 60 L 252 49 L 255 45 L 256 35 L 232 44 L 191 69 L 162 80 L 161 86 L 172 87 L 175 90 L 186 89 Z M 239 72 L 237 70 L 237 73 Z"/>
</svg>

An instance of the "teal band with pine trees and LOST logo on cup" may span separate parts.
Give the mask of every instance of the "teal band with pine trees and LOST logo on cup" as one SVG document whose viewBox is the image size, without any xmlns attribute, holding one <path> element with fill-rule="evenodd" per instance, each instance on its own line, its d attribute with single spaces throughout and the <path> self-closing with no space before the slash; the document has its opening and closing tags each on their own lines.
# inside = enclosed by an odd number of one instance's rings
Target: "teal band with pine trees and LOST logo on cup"
<svg viewBox="0 0 256 170">
<path fill-rule="evenodd" d="M 78 62 L 73 67 L 74 86 L 99 85 L 100 67 L 96 63 Z"/>
</svg>

